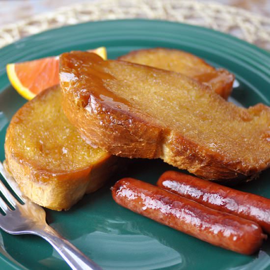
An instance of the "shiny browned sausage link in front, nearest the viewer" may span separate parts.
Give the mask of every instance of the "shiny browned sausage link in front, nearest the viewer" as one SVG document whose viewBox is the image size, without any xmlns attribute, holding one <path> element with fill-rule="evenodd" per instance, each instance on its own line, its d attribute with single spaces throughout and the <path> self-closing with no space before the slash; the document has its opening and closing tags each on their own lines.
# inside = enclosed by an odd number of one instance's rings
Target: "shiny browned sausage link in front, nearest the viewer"
<svg viewBox="0 0 270 270">
<path fill-rule="evenodd" d="M 253 221 L 216 211 L 133 178 L 119 180 L 112 187 L 112 197 L 135 213 L 242 254 L 254 253 L 266 238 Z"/>
</svg>

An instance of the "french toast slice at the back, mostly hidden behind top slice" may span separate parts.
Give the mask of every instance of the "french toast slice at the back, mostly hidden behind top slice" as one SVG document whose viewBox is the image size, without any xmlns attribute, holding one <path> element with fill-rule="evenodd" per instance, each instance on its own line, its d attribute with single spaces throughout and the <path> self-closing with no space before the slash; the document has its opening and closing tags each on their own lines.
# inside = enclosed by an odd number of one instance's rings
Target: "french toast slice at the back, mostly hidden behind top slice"
<svg viewBox="0 0 270 270">
<path fill-rule="evenodd" d="M 176 49 L 153 48 L 132 51 L 119 60 L 179 72 L 199 82 L 211 85 L 224 99 L 231 94 L 234 75 L 225 69 L 215 69 L 203 59 Z"/>
</svg>

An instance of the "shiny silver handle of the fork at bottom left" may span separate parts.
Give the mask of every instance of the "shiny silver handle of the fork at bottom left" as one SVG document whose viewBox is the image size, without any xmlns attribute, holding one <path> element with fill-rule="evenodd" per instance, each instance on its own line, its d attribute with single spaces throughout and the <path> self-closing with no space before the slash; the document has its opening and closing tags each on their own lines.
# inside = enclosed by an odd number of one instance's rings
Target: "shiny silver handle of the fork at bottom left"
<svg viewBox="0 0 270 270">
<path fill-rule="evenodd" d="M 38 235 L 47 240 L 73 270 L 102 270 L 86 257 L 77 247 L 59 235 L 47 225 Z"/>
</svg>

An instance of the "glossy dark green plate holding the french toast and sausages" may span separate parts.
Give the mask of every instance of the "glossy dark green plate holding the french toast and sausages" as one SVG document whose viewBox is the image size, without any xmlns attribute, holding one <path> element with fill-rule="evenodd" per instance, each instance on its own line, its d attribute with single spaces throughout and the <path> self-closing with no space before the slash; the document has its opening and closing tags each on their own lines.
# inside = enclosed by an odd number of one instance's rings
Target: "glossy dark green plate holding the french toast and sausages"
<svg viewBox="0 0 270 270">
<path fill-rule="evenodd" d="M 270 105 L 270 54 L 234 37 L 202 27 L 164 21 L 123 20 L 62 27 L 27 37 L 0 50 L 0 160 L 8 121 L 26 101 L 10 86 L 5 64 L 70 50 L 106 46 L 108 57 L 131 50 L 167 47 L 188 51 L 236 75 L 232 100 L 244 107 Z M 122 176 L 155 183 L 167 169 L 160 160 L 136 160 Z M 116 177 L 119 178 L 120 176 Z M 238 189 L 270 197 L 270 170 Z M 254 256 L 240 255 L 202 242 L 126 210 L 107 186 L 68 212 L 47 211 L 48 221 L 105 270 L 240 270 L 270 268 L 270 245 Z M 44 240 L 0 232 L 1 269 L 69 269 Z"/>
</svg>

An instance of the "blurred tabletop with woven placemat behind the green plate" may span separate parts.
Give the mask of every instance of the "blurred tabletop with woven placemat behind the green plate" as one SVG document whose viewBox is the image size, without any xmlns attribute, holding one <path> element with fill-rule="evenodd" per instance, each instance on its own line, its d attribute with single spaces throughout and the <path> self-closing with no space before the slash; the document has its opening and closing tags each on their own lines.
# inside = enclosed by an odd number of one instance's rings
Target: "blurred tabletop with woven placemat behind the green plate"
<svg viewBox="0 0 270 270">
<path fill-rule="evenodd" d="M 198 25 L 270 50 L 270 0 L 0 0 L 0 48 L 89 21 L 143 18 Z"/>
</svg>

